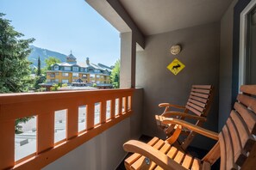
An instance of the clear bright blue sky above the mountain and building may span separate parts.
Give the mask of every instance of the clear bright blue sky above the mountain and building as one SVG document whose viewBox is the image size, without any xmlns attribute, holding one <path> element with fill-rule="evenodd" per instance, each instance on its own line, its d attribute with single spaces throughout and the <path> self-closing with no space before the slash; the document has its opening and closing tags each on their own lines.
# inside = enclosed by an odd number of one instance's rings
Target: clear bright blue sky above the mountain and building
<svg viewBox="0 0 256 170">
<path fill-rule="evenodd" d="M 0 12 L 34 46 L 68 55 L 79 62 L 115 64 L 120 38 L 115 27 L 84 0 L 0 0 Z"/>
</svg>

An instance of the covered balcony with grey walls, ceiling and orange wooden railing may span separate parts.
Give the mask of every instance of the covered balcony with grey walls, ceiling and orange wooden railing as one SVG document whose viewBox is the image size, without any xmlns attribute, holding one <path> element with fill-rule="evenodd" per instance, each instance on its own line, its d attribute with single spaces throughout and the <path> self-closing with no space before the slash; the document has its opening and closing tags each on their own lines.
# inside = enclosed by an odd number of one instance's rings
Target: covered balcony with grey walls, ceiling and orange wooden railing
<svg viewBox="0 0 256 170">
<path fill-rule="evenodd" d="M 256 83 L 254 76 L 247 82 L 246 36 L 241 32 L 242 17 L 255 0 L 85 1 L 120 32 L 121 89 L 1 94 L 0 169 L 116 169 L 127 155 L 122 144 L 129 139 L 165 138 L 154 119 L 163 112 L 159 103 L 183 105 L 191 85 L 213 85 L 215 98 L 203 127 L 218 132 L 238 87 Z M 176 44 L 181 52 L 173 55 L 170 49 Z M 175 58 L 185 66 L 176 76 L 166 69 Z M 97 81 L 96 76 L 90 79 Z M 56 142 L 54 116 L 62 110 L 65 131 Z M 15 147 L 15 120 L 28 116 L 36 117 L 34 148 L 21 156 Z M 191 143 L 206 150 L 213 145 L 200 136 Z"/>
</svg>

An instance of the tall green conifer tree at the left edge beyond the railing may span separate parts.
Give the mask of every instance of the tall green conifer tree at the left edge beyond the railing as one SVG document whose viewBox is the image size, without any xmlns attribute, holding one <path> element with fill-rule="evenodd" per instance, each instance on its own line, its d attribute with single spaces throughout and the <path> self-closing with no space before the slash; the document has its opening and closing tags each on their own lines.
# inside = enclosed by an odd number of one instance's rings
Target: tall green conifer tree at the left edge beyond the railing
<svg viewBox="0 0 256 170">
<path fill-rule="evenodd" d="M 0 93 L 27 92 L 33 86 L 30 76 L 29 44 L 34 39 L 22 39 L 23 34 L 10 25 L 0 13 Z M 16 133 L 22 132 L 19 123 L 31 117 L 16 119 Z"/>
</svg>

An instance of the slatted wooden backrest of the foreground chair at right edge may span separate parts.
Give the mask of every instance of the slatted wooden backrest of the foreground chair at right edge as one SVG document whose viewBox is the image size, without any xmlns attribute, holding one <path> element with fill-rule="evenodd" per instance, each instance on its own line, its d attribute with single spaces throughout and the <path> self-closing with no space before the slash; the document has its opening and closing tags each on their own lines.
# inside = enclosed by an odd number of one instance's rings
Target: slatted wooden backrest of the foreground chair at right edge
<svg viewBox="0 0 256 170">
<path fill-rule="evenodd" d="M 237 96 L 235 110 L 219 134 L 221 169 L 248 169 L 256 161 L 256 85 L 241 86 L 240 91 L 243 94 Z"/>
</svg>

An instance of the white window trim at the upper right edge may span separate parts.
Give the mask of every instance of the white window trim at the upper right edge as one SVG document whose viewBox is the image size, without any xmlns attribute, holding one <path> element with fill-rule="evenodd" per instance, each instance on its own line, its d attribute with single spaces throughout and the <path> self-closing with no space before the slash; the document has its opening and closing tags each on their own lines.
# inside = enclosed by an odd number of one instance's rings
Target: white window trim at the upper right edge
<svg viewBox="0 0 256 170">
<path fill-rule="evenodd" d="M 247 56 L 247 14 L 256 5 L 256 0 L 252 0 L 240 13 L 240 54 L 239 54 L 239 86 L 246 83 L 246 56 Z M 240 90 L 238 89 L 238 92 Z"/>
</svg>

